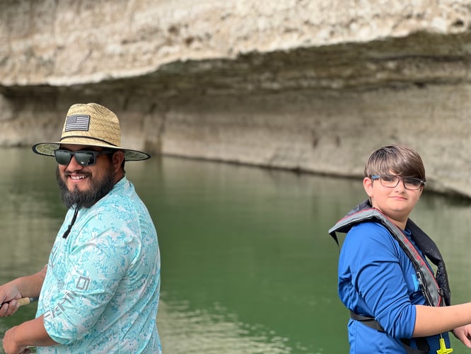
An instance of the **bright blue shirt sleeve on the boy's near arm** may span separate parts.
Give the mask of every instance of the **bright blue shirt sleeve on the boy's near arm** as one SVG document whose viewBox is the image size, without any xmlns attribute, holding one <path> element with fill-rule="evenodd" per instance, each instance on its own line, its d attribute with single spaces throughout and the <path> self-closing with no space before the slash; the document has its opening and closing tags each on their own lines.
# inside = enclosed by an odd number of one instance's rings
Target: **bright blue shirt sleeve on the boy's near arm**
<svg viewBox="0 0 471 354">
<path fill-rule="evenodd" d="M 366 222 L 347 234 L 339 264 L 339 282 L 350 287 L 347 307 L 373 316 L 395 338 L 411 338 L 415 326 L 416 309 L 405 278 L 409 275 L 401 264 L 409 260 L 404 257 L 385 227 Z"/>
</svg>

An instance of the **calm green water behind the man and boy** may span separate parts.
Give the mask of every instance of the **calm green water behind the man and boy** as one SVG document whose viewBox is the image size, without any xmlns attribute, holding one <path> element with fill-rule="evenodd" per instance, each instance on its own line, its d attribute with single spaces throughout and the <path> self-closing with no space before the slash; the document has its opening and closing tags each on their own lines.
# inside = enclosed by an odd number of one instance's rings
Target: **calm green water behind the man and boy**
<svg viewBox="0 0 471 354">
<path fill-rule="evenodd" d="M 65 210 L 52 158 L 1 152 L 3 283 L 47 263 Z M 173 158 L 126 170 L 158 232 L 164 353 L 347 353 L 327 229 L 365 198 L 361 180 Z M 471 298 L 470 206 L 425 193 L 412 215 L 442 250 L 453 302 Z M 30 304 L 0 319 L 0 336 L 34 314 Z"/>
</svg>

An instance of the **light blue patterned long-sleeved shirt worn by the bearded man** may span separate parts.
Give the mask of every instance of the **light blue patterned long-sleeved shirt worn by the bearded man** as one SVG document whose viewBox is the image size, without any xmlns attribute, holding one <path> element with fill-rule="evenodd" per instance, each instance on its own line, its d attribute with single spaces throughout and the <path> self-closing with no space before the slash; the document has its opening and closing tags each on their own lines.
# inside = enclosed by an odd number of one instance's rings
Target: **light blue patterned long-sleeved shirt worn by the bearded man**
<svg viewBox="0 0 471 354">
<path fill-rule="evenodd" d="M 156 229 L 122 178 L 90 208 L 67 212 L 52 247 L 37 314 L 59 346 L 37 353 L 161 353 Z"/>
</svg>

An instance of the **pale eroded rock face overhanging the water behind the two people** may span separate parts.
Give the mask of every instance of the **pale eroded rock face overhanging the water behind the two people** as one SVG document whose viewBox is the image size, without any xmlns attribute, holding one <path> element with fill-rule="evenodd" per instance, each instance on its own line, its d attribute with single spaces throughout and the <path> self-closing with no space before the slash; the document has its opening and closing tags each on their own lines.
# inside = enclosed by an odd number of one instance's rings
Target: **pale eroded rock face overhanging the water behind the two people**
<svg viewBox="0 0 471 354">
<path fill-rule="evenodd" d="M 471 4 L 348 2 L 1 1 L 0 144 L 93 101 L 126 147 L 362 176 L 402 143 L 471 196 Z"/>
</svg>

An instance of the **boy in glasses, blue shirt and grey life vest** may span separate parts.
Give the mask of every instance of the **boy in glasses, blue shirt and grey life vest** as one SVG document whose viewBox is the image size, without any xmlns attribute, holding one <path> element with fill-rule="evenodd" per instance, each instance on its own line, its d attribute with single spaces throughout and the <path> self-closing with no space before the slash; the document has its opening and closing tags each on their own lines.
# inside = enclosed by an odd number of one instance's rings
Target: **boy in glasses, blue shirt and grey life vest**
<svg viewBox="0 0 471 354">
<path fill-rule="evenodd" d="M 441 254 L 409 219 L 425 182 L 417 152 L 382 147 L 365 166 L 368 200 L 329 230 L 335 241 L 336 232 L 347 232 L 338 292 L 351 314 L 350 353 L 450 353 L 452 329 L 471 348 L 471 303 L 449 306 Z"/>
</svg>

